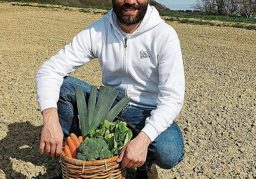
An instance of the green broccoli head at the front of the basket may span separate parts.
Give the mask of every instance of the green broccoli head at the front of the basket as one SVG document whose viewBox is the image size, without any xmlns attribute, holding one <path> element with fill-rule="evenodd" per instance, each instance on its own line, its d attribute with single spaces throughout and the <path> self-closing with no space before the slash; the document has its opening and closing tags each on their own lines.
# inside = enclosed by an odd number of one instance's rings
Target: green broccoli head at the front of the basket
<svg viewBox="0 0 256 179">
<path fill-rule="evenodd" d="M 77 151 L 77 159 L 93 161 L 97 159 L 106 159 L 111 156 L 108 144 L 99 138 L 90 138 L 80 143 Z"/>
</svg>

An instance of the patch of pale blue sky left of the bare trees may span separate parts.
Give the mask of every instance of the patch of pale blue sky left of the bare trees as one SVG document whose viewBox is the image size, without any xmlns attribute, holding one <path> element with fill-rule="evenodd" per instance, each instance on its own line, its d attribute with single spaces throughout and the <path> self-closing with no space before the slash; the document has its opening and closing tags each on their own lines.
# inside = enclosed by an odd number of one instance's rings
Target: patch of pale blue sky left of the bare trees
<svg viewBox="0 0 256 179">
<path fill-rule="evenodd" d="M 188 10 L 193 8 L 191 4 L 194 4 L 196 0 L 155 0 L 160 4 L 164 4 L 166 7 L 172 10 Z"/>
</svg>

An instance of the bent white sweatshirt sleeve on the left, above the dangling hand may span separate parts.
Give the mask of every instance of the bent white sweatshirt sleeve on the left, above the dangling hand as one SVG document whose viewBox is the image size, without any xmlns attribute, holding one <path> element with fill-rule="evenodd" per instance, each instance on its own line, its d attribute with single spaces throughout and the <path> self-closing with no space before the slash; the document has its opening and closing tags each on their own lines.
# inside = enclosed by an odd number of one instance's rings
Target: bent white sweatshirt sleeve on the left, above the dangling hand
<svg viewBox="0 0 256 179">
<path fill-rule="evenodd" d="M 44 62 L 37 71 L 35 79 L 40 111 L 51 107 L 57 108 L 63 77 L 94 58 L 90 29 L 86 28 L 78 33 L 70 44 Z"/>
</svg>

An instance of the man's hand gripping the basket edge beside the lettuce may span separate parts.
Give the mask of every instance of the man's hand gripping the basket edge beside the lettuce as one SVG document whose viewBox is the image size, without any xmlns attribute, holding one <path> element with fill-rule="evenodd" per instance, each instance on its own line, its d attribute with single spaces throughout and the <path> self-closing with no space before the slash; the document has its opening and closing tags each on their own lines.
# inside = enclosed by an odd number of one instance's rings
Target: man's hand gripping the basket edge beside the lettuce
<svg viewBox="0 0 256 179">
<path fill-rule="evenodd" d="M 146 161 L 150 139 L 144 132 L 128 142 L 120 153 L 117 162 L 122 161 L 122 168 L 140 167 Z"/>
</svg>

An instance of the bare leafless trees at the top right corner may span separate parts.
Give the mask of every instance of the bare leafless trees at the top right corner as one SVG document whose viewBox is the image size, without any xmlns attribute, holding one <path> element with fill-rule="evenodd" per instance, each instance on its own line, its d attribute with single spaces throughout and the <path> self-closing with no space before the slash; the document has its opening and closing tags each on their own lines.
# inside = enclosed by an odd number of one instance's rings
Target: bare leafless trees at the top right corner
<svg viewBox="0 0 256 179">
<path fill-rule="evenodd" d="M 256 0 L 196 0 L 192 7 L 208 15 L 256 17 Z"/>
</svg>

